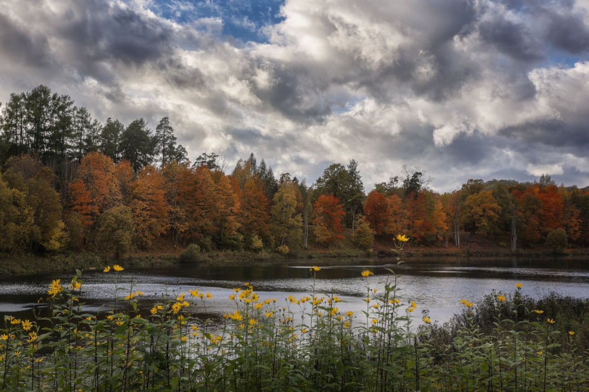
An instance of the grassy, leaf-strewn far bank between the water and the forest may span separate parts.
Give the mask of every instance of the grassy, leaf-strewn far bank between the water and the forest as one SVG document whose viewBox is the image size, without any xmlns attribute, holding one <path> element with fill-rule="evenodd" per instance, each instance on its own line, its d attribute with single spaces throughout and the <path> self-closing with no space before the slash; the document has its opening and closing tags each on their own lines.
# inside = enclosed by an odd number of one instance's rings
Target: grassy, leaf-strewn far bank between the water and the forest
<svg viewBox="0 0 589 392">
<path fill-rule="evenodd" d="M 393 257 L 395 252 L 395 242 L 392 238 L 377 237 L 373 249 L 358 249 L 351 240 L 352 232 L 350 229 L 344 231 L 345 239 L 325 246 L 316 243 L 313 239 L 309 240 L 307 249 L 301 244 L 290 246 L 287 254 L 280 254 L 274 250 L 263 249 L 259 252 L 250 250 L 209 250 L 192 254 L 186 257 L 184 262 L 187 263 L 261 263 L 268 261 L 283 260 L 284 262 L 298 262 L 300 260 L 314 260 L 316 263 L 326 264 L 330 259 L 349 258 L 349 259 L 367 259 L 375 257 Z M 461 247 L 456 247 L 453 243 L 445 243 L 439 240 L 434 244 L 414 244 L 408 243 L 405 248 L 405 257 L 455 257 L 455 258 L 472 258 L 472 259 L 496 259 L 504 257 L 529 257 L 538 259 L 554 259 L 555 257 L 589 257 L 587 249 L 565 249 L 562 254 L 555 254 L 552 250 L 545 247 L 522 247 L 517 253 L 508 250 L 506 241 L 509 239 L 507 234 L 498 234 L 489 237 L 484 233 L 470 234 L 462 233 Z M 49 254 L 47 256 L 19 256 L 19 257 L 1 257 L 0 255 L 0 273 L 2 274 L 34 274 L 34 273 L 54 273 L 54 272 L 72 272 L 75 269 L 101 269 L 112 263 L 121 264 L 124 267 L 143 267 L 181 263 L 181 254 L 186 253 L 187 249 L 174 248 L 172 244 L 164 238 L 155 243 L 155 246 L 149 250 L 135 250 L 120 259 L 114 259 L 108 254 L 82 251 L 67 252 L 61 254 Z"/>
</svg>

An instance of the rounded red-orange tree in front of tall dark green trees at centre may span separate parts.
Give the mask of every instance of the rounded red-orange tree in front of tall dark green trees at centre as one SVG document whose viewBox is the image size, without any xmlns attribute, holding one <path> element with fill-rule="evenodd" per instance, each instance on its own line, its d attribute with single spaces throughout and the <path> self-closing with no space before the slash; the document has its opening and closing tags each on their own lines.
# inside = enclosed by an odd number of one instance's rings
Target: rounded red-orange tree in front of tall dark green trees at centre
<svg viewBox="0 0 589 392">
<path fill-rule="evenodd" d="M 342 219 L 346 215 L 337 197 L 321 195 L 313 205 L 315 238 L 319 243 L 333 244 L 343 240 Z"/>
</svg>

